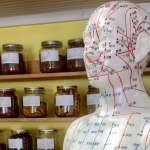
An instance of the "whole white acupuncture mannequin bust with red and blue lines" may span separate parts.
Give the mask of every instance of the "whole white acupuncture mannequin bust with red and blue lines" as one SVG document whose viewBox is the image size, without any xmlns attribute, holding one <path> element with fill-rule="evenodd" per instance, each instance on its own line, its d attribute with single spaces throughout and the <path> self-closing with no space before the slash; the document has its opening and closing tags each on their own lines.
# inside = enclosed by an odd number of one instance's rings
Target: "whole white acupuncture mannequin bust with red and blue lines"
<svg viewBox="0 0 150 150">
<path fill-rule="evenodd" d="M 69 127 L 63 150 L 150 150 L 150 13 L 124 1 L 97 8 L 83 33 L 89 82 L 101 107 Z"/>
</svg>

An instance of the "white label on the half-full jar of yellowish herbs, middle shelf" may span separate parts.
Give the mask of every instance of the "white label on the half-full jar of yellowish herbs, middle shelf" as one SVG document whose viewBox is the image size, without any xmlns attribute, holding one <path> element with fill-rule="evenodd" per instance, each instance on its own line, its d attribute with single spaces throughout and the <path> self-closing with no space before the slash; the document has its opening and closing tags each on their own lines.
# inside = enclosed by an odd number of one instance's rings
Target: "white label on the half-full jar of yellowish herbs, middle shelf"
<svg viewBox="0 0 150 150">
<path fill-rule="evenodd" d="M 23 96 L 23 106 L 40 106 L 40 96 Z"/>
</svg>

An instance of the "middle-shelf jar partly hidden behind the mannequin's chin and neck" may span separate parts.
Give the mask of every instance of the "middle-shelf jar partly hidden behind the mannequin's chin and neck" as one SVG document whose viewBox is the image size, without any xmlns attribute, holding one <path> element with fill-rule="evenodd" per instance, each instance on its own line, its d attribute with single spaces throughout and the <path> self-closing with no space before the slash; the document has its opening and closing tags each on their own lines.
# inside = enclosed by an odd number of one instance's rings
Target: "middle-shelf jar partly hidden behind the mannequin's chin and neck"
<svg viewBox="0 0 150 150">
<path fill-rule="evenodd" d="M 94 113 L 100 107 L 99 89 L 91 85 L 88 86 L 86 95 L 86 114 Z"/>
</svg>

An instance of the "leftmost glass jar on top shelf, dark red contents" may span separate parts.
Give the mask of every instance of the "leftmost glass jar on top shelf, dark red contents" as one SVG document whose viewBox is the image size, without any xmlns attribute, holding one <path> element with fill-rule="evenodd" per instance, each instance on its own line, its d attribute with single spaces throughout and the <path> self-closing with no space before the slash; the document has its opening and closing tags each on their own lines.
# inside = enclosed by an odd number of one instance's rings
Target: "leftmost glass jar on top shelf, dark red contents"
<svg viewBox="0 0 150 150">
<path fill-rule="evenodd" d="M 1 53 L 1 73 L 22 74 L 25 73 L 23 46 L 20 44 L 4 44 Z"/>
</svg>

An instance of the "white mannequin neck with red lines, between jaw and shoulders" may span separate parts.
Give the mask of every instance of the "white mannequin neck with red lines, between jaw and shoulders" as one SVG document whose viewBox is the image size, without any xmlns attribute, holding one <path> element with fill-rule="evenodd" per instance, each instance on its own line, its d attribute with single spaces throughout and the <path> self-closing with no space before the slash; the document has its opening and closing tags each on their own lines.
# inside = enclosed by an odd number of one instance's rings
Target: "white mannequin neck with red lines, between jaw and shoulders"
<svg viewBox="0 0 150 150">
<path fill-rule="evenodd" d="M 142 77 L 135 73 L 130 80 L 130 74 L 128 77 L 127 74 L 129 73 L 123 72 L 108 76 L 107 88 L 101 90 L 100 99 L 104 114 L 107 111 L 109 115 L 119 116 L 150 109 L 150 99 L 143 86 Z"/>
</svg>

